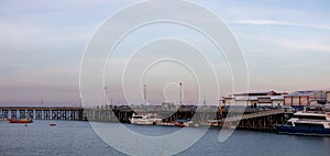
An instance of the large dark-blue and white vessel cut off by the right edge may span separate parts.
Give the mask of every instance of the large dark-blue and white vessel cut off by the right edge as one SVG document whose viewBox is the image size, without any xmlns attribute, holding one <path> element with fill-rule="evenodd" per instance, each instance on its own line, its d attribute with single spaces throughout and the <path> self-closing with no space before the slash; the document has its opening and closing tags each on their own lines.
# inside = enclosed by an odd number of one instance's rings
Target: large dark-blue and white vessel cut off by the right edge
<svg viewBox="0 0 330 156">
<path fill-rule="evenodd" d="M 296 112 L 286 124 L 275 124 L 277 133 L 330 136 L 330 112 Z"/>
</svg>

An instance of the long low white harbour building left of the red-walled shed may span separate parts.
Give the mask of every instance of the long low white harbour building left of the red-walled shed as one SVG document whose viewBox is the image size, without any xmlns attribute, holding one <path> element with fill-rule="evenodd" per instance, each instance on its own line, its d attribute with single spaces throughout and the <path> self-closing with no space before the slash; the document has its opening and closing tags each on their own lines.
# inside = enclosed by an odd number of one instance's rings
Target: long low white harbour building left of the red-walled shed
<svg viewBox="0 0 330 156">
<path fill-rule="evenodd" d="M 249 91 L 243 93 L 233 93 L 223 97 L 220 102 L 222 105 L 238 105 L 251 108 L 276 108 L 284 105 L 284 96 L 286 92 L 270 91 Z"/>
</svg>

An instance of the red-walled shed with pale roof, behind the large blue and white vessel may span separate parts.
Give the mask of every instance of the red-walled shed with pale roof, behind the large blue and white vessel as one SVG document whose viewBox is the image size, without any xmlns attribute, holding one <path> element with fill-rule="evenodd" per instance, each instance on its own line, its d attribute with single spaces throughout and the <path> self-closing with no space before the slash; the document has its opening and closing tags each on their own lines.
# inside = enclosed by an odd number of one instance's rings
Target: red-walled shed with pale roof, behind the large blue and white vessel
<svg viewBox="0 0 330 156">
<path fill-rule="evenodd" d="M 301 109 L 311 104 L 326 103 L 326 97 L 323 90 L 294 91 L 284 96 L 284 105 Z"/>
</svg>

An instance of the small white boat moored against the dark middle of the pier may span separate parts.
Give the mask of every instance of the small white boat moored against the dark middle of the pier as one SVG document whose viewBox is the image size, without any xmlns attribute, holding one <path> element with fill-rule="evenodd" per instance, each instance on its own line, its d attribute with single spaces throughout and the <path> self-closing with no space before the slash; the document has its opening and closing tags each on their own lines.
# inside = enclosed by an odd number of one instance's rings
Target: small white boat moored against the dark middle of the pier
<svg viewBox="0 0 330 156">
<path fill-rule="evenodd" d="M 132 124 L 142 124 L 142 125 L 155 125 L 160 122 L 162 122 L 162 118 L 160 118 L 157 114 L 135 114 L 133 113 L 132 118 L 130 119 L 130 122 Z"/>
</svg>

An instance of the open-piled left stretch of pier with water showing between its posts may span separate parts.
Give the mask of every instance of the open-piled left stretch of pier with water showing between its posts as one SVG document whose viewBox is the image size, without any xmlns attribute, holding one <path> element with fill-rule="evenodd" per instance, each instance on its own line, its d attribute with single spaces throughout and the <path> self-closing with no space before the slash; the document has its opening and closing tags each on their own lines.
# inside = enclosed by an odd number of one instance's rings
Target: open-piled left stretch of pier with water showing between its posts
<svg viewBox="0 0 330 156">
<path fill-rule="evenodd" d="M 84 120 L 80 107 L 0 107 L 2 119 Z"/>
</svg>

